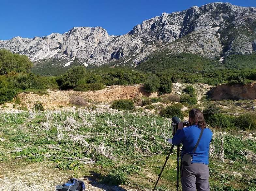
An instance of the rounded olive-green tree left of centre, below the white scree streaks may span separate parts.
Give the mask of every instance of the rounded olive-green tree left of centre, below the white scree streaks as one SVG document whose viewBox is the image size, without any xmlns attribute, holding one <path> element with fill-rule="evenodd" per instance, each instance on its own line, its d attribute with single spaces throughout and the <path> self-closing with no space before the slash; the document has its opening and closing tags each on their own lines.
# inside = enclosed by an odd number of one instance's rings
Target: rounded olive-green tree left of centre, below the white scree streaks
<svg viewBox="0 0 256 191">
<path fill-rule="evenodd" d="M 85 75 L 86 71 L 83 66 L 74 66 L 68 69 L 62 76 L 57 77 L 56 81 L 61 89 L 74 88 Z"/>
</svg>

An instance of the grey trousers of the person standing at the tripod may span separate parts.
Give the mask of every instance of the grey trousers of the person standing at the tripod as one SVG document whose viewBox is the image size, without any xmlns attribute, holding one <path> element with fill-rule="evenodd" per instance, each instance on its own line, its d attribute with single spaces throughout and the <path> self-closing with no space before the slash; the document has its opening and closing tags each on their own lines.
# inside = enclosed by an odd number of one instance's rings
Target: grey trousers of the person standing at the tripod
<svg viewBox="0 0 256 191">
<path fill-rule="evenodd" d="M 208 165 L 194 163 L 182 166 L 180 176 L 182 191 L 210 191 Z"/>
</svg>

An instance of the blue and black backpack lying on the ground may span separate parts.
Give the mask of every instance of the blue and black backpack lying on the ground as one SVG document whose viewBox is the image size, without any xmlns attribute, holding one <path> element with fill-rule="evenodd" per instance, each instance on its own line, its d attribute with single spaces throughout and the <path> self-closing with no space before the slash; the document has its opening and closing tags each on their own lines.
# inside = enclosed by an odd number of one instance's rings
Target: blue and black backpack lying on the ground
<svg viewBox="0 0 256 191">
<path fill-rule="evenodd" d="M 83 181 L 71 178 L 67 183 L 63 185 L 57 185 L 56 191 L 84 191 L 85 185 Z"/>
</svg>

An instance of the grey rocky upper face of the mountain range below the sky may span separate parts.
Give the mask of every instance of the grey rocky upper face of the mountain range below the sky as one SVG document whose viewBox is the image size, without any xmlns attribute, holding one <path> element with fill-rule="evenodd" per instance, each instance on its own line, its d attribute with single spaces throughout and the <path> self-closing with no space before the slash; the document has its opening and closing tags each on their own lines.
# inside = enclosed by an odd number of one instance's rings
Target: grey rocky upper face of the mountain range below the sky
<svg viewBox="0 0 256 191">
<path fill-rule="evenodd" d="M 105 63 L 136 66 L 147 55 L 168 48 L 214 58 L 251 54 L 256 50 L 256 8 L 210 3 L 185 11 L 163 13 L 143 21 L 125 35 L 113 36 L 101 27 L 75 27 L 33 39 L 0 41 L 0 48 L 30 57 L 35 64 L 64 60 L 68 66 Z"/>
</svg>

